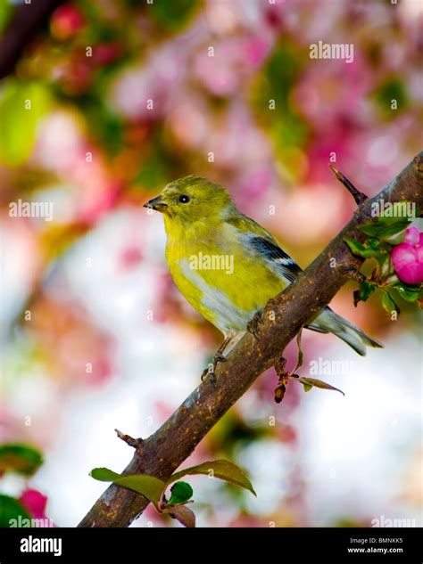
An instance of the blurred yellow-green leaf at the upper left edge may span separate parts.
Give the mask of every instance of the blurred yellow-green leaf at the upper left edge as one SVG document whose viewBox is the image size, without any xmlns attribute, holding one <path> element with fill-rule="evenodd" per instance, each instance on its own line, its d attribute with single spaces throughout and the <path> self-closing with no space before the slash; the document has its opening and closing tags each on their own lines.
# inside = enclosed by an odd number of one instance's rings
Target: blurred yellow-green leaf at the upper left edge
<svg viewBox="0 0 423 564">
<path fill-rule="evenodd" d="M 51 97 L 38 82 L 8 80 L 0 93 L 0 160 L 25 162 L 34 146 L 38 121 L 51 107 Z"/>
</svg>

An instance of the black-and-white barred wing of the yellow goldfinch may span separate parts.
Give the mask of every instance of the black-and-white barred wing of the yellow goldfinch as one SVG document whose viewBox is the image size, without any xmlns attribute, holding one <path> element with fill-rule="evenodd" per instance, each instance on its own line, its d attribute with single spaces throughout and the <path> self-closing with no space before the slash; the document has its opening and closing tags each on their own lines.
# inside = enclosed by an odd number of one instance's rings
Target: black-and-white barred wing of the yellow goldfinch
<svg viewBox="0 0 423 564">
<path fill-rule="evenodd" d="M 236 228 L 247 249 L 257 254 L 267 263 L 270 270 L 281 276 L 288 284 L 294 282 L 298 274 L 303 272 L 294 259 L 279 247 L 275 237 L 250 217 L 240 214 L 228 219 L 228 224 Z"/>
</svg>

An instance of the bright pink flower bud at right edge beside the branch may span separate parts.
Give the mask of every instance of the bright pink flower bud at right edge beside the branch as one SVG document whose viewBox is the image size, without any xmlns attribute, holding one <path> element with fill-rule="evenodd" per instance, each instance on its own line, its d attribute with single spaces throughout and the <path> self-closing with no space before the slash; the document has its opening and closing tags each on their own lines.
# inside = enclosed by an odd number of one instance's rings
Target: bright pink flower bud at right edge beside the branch
<svg viewBox="0 0 423 564">
<path fill-rule="evenodd" d="M 419 233 L 419 229 L 407 229 L 404 241 L 394 247 L 391 257 L 396 274 L 402 282 L 423 282 L 423 233 Z"/>
</svg>

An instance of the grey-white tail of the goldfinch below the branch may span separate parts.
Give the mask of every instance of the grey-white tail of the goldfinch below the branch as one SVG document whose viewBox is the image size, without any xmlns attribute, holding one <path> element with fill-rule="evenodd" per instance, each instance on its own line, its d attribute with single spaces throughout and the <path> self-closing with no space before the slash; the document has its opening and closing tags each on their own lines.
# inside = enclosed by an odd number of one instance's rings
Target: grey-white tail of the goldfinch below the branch
<svg viewBox="0 0 423 564">
<path fill-rule="evenodd" d="M 308 327 L 314 331 L 333 333 L 339 339 L 343 339 L 361 356 L 365 356 L 366 347 L 383 348 L 381 343 L 375 339 L 370 339 L 369 335 L 366 335 L 364 331 L 361 331 L 341 315 L 337 315 L 330 307 L 325 307 Z"/>
</svg>

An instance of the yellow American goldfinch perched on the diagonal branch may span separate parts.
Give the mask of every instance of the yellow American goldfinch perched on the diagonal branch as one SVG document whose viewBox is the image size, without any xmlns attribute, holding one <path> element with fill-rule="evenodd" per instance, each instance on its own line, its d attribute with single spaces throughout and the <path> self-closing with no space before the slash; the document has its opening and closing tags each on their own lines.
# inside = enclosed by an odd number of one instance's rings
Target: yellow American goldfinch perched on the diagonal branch
<svg viewBox="0 0 423 564">
<path fill-rule="evenodd" d="M 145 203 L 162 212 L 170 274 L 187 301 L 224 335 L 216 358 L 235 347 L 253 315 L 302 272 L 261 225 L 237 208 L 228 191 L 187 176 Z M 308 329 L 334 333 L 359 355 L 382 347 L 329 307 Z"/>
</svg>

